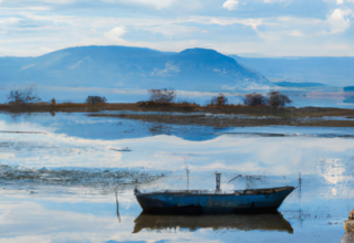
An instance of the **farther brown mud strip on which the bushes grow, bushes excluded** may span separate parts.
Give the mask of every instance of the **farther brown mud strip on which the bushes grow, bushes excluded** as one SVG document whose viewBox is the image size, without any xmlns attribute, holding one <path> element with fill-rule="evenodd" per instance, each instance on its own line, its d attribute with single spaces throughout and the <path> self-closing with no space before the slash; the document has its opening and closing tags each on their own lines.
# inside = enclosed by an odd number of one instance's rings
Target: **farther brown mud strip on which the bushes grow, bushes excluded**
<svg viewBox="0 0 354 243">
<path fill-rule="evenodd" d="M 343 116 L 354 117 L 354 109 L 331 108 L 331 107 L 280 107 L 273 108 L 269 106 L 243 106 L 243 105 L 223 105 L 223 106 L 200 106 L 190 103 L 173 103 L 173 104 L 152 104 L 152 103 L 106 103 L 106 104 L 1 104 L 0 112 L 8 113 L 96 113 L 103 110 L 131 110 L 131 112 L 179 112 L 179 113 L 200 113 L 200 114 L 232 114 L 249 116 L 273 116 L 282 118 L 299 117 L 323 117 L 323 116 Z"/>
</svg>

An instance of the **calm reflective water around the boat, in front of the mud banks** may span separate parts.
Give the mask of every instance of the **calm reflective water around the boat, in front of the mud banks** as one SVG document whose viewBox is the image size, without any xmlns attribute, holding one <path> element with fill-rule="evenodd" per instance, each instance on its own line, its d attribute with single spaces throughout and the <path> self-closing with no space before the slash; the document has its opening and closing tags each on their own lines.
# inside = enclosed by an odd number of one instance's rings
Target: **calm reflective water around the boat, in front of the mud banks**
<svg viewBox="0 0 354 243">
<path fill-rule="evenodd" d="M 0 114 L 1 242 L 341 242 L 352 128 L 215 128 Z M 133 190 L 298 187 L 279 214 L 147 215 Z M 301 176 L 300 176 L 301 173 Z M 238 175 L 242 175 L 229 182 Z M 299 188 L 301 178 L 301 190 Z"/>
</svg>

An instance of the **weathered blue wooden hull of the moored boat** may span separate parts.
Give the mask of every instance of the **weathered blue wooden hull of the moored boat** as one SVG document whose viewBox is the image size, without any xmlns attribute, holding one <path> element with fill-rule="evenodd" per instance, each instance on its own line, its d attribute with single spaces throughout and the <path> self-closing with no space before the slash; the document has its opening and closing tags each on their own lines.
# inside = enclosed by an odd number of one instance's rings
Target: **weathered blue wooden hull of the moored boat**
<svg viewBox="0 0 354 243">
<path fill-rule="evenodd" d="M 198 191 L 135 192 L 145 212 L 152 213 L 259 213 L 274 212 L 293 187 L 206 193 Z"/>
</svg>

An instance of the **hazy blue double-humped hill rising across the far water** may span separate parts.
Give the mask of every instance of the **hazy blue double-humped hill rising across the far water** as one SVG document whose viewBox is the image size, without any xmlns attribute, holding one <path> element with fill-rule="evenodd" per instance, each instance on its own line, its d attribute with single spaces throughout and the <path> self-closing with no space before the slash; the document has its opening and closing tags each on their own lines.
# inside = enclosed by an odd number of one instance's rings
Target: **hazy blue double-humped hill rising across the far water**
<svg viewBox="0 0 354 243">
<path fill-rule="evenodd" d="M 263 75 L 214 50 L 171 53 L 127 46 L 81 46 L 38 57 L 0 57 L 0 78 L 10 85 L 194 91 L 272 85 Z"/>
</svg>

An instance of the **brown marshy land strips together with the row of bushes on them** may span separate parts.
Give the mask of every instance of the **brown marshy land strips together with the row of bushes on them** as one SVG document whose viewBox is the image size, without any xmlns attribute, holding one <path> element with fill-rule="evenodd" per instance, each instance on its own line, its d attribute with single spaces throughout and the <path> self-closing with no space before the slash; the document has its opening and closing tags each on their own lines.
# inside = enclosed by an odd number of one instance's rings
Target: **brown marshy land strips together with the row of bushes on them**
<svg viewBox="0 0 354 243">
<path fill-rule="evenodd" d="M 90 95 L 83 103 L 41 102 L 35 87 L 11 91 L 9 103 L 1 104 L 0 110 L 7 113 L 88 113 L 88 116 L 121 117 L 149 123 L 200 125 L 223 127 L 247 126 L 317 126 L 354 127 L 354 110 L 343 108 L 289 106 L 292 101 L 280 92 L 273 91 L 246 94 L 243 104 L 230 104 L 223 94 L 210 99 L 207 105 L 199 105 L 177 99 L 174 88 L 149 89 L 149 99 L 137 103 L 108 103 L 104 96 Z M 131 110 L 139 114 L 97 114 L 100 110 Z M 146 113 L 144 112 L 159 112 Z M 179 114 L 170 114 L 178 112 Z M 191 114 L 192 113 L 192 114 Z M 222 116 L 219 116 L 222 114 Z M 343 117 L 331 119 L 329 117 Z"/>
</svg>

